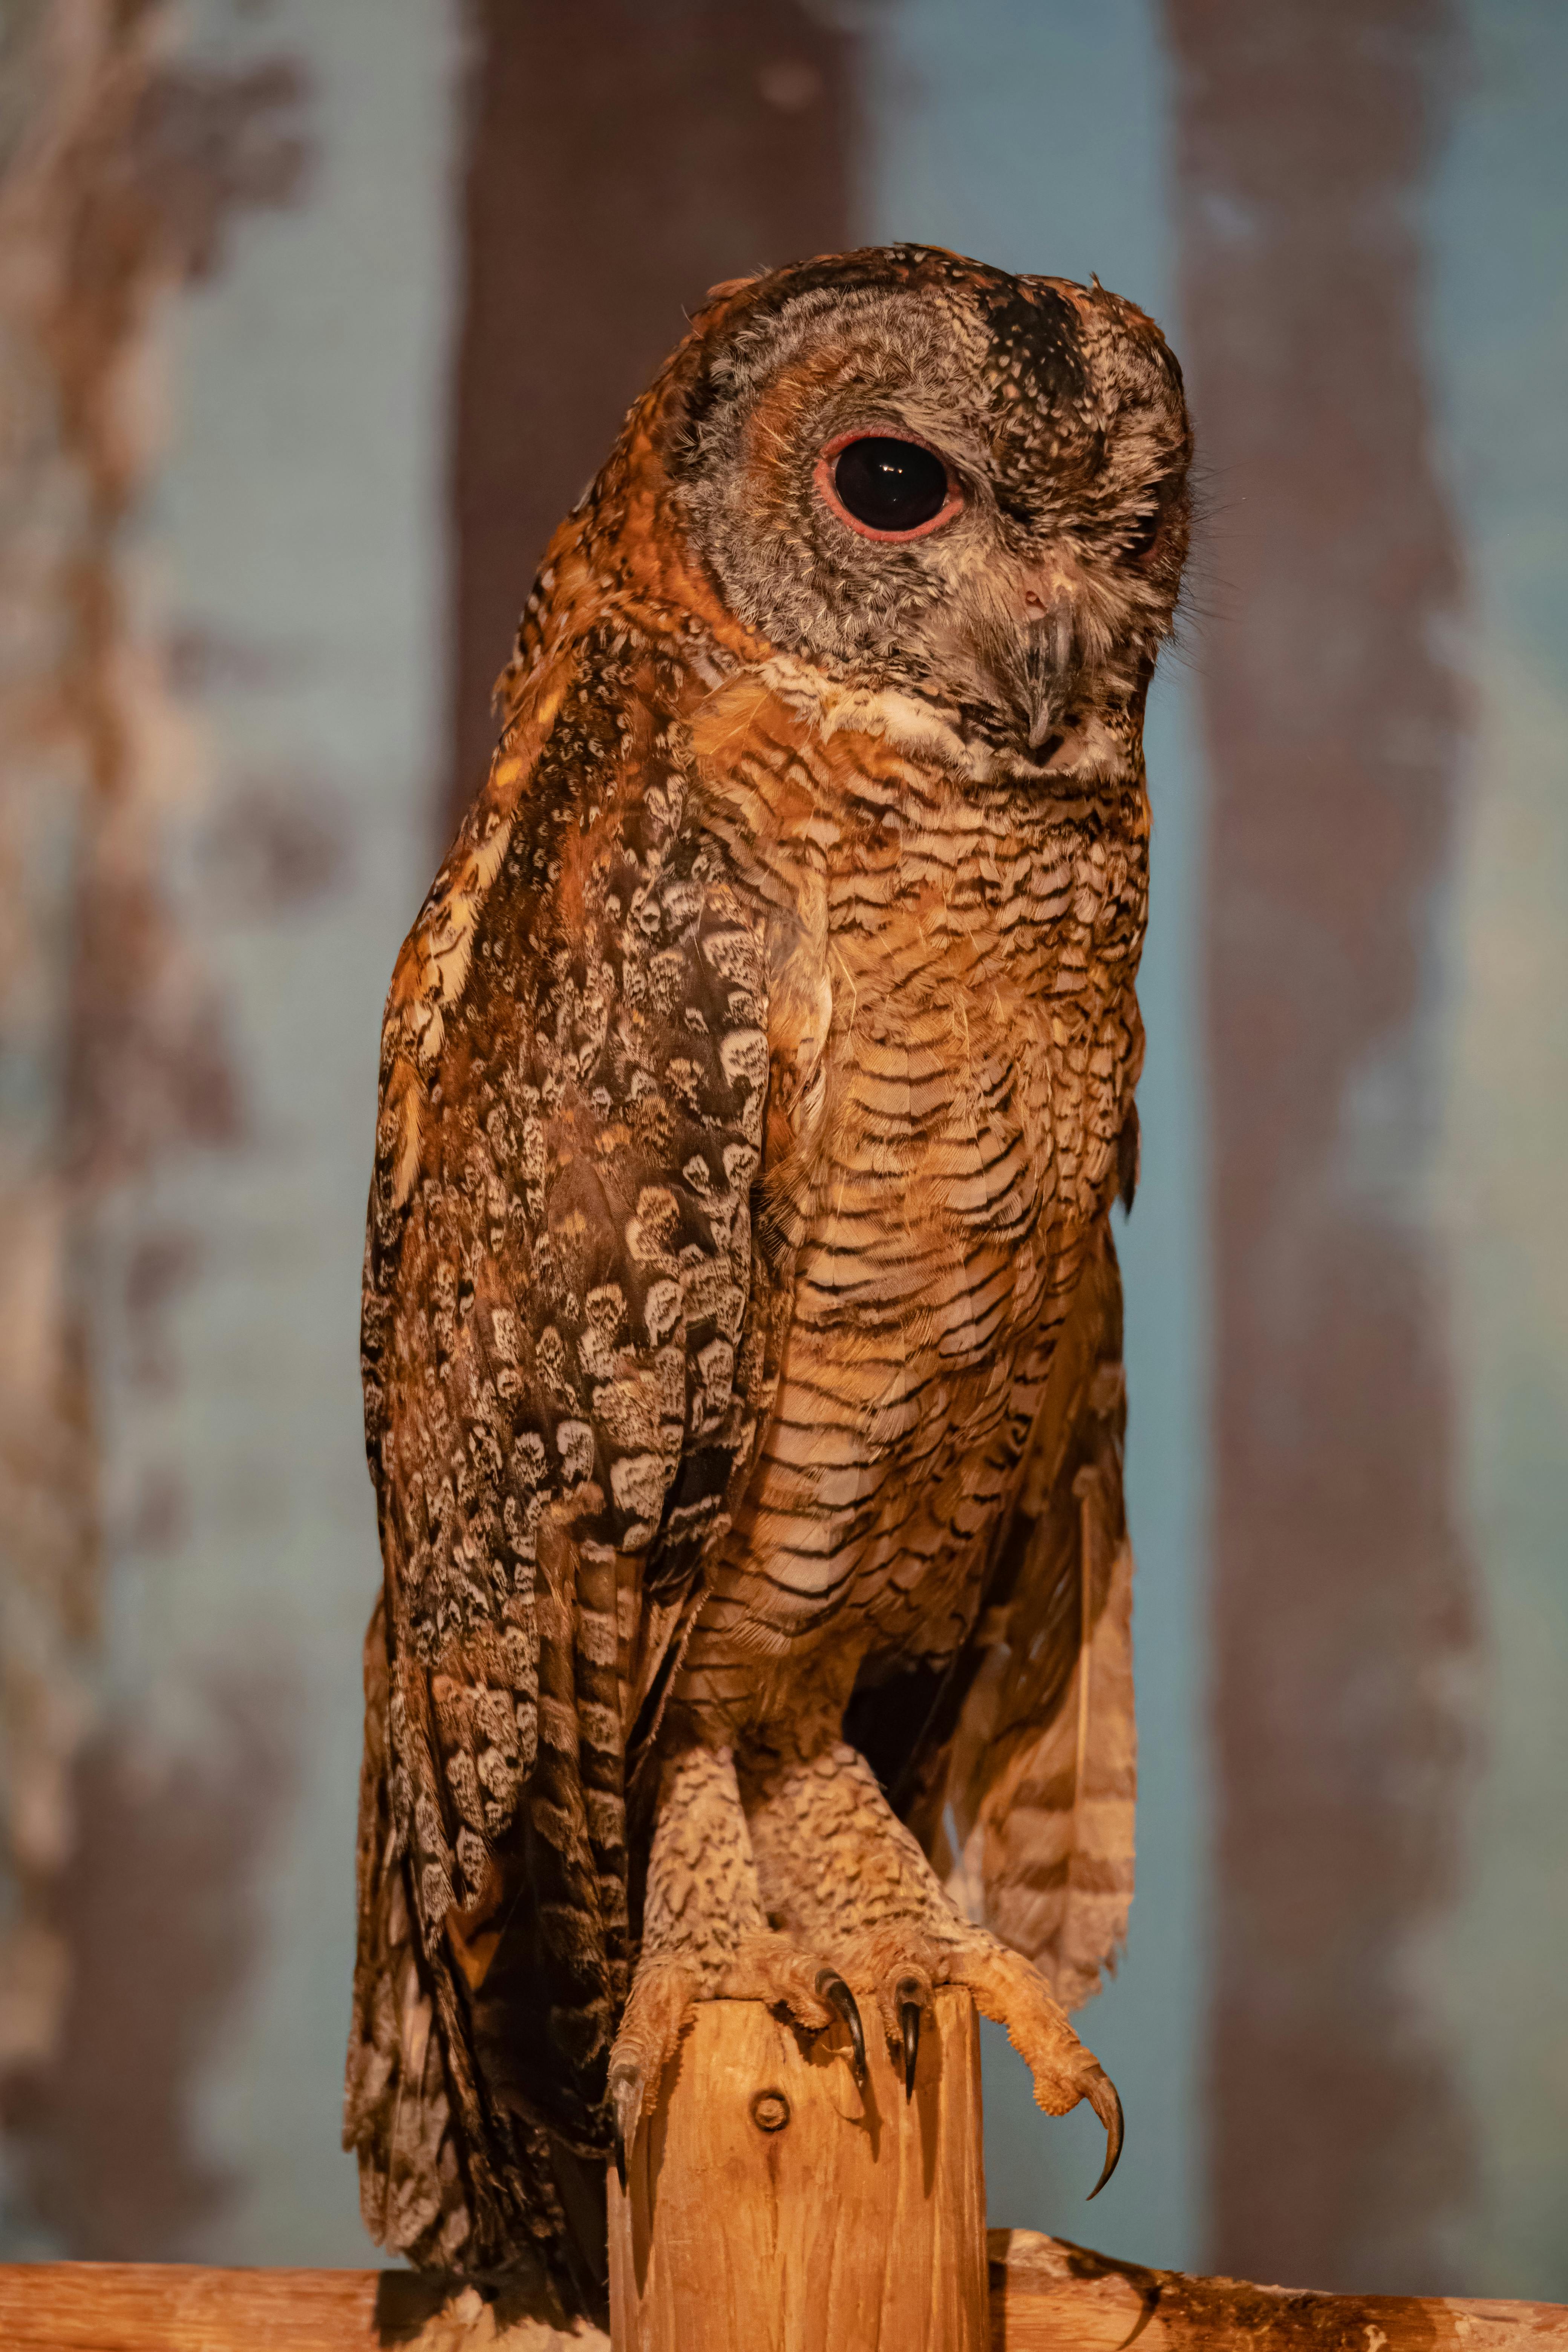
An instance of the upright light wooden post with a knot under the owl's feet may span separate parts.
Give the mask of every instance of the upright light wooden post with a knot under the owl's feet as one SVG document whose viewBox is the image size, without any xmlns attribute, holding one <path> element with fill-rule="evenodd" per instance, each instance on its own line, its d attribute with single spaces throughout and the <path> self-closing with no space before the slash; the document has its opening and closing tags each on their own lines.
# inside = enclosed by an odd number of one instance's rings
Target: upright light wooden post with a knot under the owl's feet
<svg viewBox="0 0 1568 2352">
<path fill-rule="evenodd" d="M 863 2013 L 858 2091 L 842 2027 L 698 2009 L 609 2183 L 614 2352 L 985 2352 L 973 2004 L 936 1994 L 910 2100 Z"/>
</svg>

